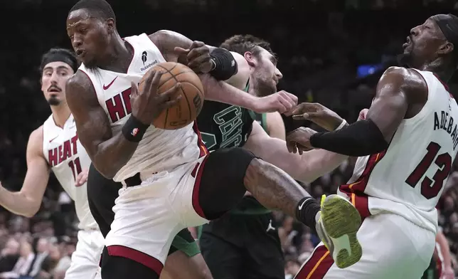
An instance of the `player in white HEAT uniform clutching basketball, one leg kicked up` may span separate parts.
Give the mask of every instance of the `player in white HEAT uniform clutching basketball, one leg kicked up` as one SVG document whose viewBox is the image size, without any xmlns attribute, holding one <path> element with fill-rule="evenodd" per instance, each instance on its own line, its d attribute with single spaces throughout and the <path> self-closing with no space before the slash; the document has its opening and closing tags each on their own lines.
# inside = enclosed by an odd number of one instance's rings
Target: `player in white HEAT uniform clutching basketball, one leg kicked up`
<svg viewBox="0 0 458 279">
<path fill-rule="evenodd" d="M 138 93 L 135 84 L 145 65 L 166 60 L 188 64 L 203 73 L 206 97 L 213 95 L 214 100 L 240 105 L 237 102 L 250 96 L 215 80 L 235 73 L 228 51 L 216 48 L 209 54 L 203 43 L 171 31 L 122 40 L 115 15 L 102 0 L 75 4 L 67 31 L 83 62 L 66 86 L 80 141 L 101 174 L 126 185 L 119 191 L 115 220 L 105 238 L 102 278 L 159 278 L 173 236 L 218 218 L 246 190 L 264 206 L 316 225 L 319 204 L 277 167 L 239 148 L 208 154 L 193 124 L 179 130 L 150 126 L 161 110 L 177 102 L 178 86 L 157 95 L 161 73 L 149 73 L 147 90 Z M 144 52 L 147 60 L 142 60 Z M 273 99 L 279 100 L 279 95 Z"/>
</svg>

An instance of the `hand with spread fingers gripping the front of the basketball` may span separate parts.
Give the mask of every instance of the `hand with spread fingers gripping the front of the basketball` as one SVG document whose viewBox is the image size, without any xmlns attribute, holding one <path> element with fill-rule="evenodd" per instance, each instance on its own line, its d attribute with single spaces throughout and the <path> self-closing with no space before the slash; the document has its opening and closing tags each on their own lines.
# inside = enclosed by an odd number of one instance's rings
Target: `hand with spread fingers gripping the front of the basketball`
<svg viewBox="0 0 458 279">
<path fill-rule="evenodd" d="M 151 70 L 148 75 L 144 81 L 145 84 L 142 85 L 142 90 L 139 90 L 137 85 L 132 83 L 130 95 L 132 115 L 146 125 L 156 119 L 163 110 L 176 105 L 181 99 L 181 94 L 179 94 L 180 83 L 176 83 L 174 87 L 166 92 L 158 94 L 159 80 L 161 80 L 162 76 L 161 71 Z"/>
</svg>

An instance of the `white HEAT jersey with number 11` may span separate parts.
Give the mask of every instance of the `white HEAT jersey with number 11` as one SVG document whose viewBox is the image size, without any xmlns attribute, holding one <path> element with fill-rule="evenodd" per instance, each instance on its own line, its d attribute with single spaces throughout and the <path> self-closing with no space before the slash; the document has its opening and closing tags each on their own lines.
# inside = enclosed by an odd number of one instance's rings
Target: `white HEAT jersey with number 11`
<svg viewBox="0 0 458 279">
<path fill-rule="evenodd" d="M 60 185 L 75 201 L 75 210 L 80 220 L 80 229 L 98 228 L 89 204 L 86 184 L 75 186 L 75 178 L 84 169 L 89 169 L 90 158 L 76 135 L 73 115 L 68 117 L 63 128 L 55 125 L 53 115 L 43 124 L 43 154 Z"/>
</svg>

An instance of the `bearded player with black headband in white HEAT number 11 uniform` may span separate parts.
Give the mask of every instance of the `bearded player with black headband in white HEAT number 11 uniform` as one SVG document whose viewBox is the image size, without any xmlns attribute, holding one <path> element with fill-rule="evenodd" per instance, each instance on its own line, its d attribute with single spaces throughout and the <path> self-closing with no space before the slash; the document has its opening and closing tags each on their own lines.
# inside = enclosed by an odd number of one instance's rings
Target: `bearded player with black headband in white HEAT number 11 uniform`
<svg viewBox="0 0 458 279">
<path fill-rule="evenodd" d="M 52 48 L 41 60 L 41 90 L 53 112 L 33 131 L 27 144 L 27 173 L 21 191 L 0 187 L 0 204 L 14 214 L 32 217 L 40 209 L 53 172 L 60 185 L 75 201 L 80 224 L 78 244 L 66 279 L 100 278 L 99 260 L 103 236 L 87 206 L 86 179 L 90 159 L 78 141 L 76 125 L 65 101 L 65 83 L 78 69 L 70 51 Z"/>
</svg>

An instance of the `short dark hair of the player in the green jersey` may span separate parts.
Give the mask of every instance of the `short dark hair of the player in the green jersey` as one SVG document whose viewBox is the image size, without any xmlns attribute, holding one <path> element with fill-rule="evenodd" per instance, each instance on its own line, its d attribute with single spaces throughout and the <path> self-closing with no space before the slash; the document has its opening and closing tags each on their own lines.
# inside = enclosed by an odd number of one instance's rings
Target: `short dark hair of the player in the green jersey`
<svg viewBox="0 0 458 279">
<path fill-rule="evenodd" d="M 275 56 L 272 48 L 270 48 L 270 43 L 252 35 L 232 36 L 225 40 L 224 43 L 221 43 L 220 48 L 225 48 L 228 51 L 240 53 L 241 55 L 247 51 L 257 55 L 260 52 L 260 49 L 257 48 L 258 46 L 264 48 L 266 51 L 269 51 L 272 56 Z"/>
</svg>

